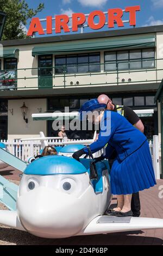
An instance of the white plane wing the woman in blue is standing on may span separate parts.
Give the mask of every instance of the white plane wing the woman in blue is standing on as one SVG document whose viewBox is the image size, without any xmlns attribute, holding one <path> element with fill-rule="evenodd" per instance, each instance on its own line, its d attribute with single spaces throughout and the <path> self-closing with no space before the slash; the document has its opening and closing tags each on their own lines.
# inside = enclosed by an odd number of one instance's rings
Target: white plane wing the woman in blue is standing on
<svg viewBox="0 0 163 256">
<path fill-rule="evenodd" d="M 163 220 L 159 218 L 98 216 L 77 235 L 107 234 L 130 230 L 160 229 Z"/>
</svg>

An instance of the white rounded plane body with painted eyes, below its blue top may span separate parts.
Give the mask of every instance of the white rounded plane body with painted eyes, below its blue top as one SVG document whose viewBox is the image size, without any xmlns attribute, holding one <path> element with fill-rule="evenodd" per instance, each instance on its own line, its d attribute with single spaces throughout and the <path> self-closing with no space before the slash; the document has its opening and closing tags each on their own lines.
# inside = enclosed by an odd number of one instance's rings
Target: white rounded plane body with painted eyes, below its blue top
<svg viewBox="0 0 163 256">
<path fill-rule="evenodd" d="M 35 184 L 34 189 L 32 184 Z M 23 174 L 18 190 L 17 215 L 24 229 L 33 235 L 69 237 L 80 233 L 93 218 L 103 215 L 110 200 L 107 170 L 103 172 L 103 192 L 98 194 L 88 173 Z"/>
</svg>

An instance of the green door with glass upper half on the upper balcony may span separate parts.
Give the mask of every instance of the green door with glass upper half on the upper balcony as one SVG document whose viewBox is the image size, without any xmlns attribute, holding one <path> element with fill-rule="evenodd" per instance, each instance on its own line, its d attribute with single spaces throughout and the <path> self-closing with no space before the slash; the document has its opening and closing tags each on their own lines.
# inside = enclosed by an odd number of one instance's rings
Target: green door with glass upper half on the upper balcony
<svg viewBox="0 0 163 256">
<path fill-rule="evenodd" d="M 39 56 L 39 88 L 53 87 L 53 56 Z"/>
</svg>

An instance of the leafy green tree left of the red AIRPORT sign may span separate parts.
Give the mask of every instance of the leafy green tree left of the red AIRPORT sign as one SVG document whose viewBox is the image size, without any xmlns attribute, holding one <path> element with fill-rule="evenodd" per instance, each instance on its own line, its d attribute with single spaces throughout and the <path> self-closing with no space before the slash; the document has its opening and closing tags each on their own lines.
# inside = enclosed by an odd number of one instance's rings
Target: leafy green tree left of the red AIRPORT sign
<svg viewBox="0 0 163 256">
<path fill-rule="evenodd" d="M 44 4 L 36 9 L 29 8 L 25 0 L 0 0 L 0 10 L 7 14 L 2 40 L 27 38 L 26 25 L 37 13 L 42 11 Z"/>
</svg>

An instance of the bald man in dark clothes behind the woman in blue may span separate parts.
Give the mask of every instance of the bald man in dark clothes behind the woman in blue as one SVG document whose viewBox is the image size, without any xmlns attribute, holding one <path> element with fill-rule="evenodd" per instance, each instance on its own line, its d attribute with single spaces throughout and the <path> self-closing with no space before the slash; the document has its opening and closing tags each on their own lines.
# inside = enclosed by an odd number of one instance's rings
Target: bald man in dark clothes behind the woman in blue
<svg viewBox="0 0 163 256">
<path fill-rule="evenodd" d="M 142 133 L 144 132 L 144 126 L 140 118 L 137 116 L 137 114 L 128 106 L 118 106 L 114 105 L 111 101 L 111 99 L 105 95 L 99 95 L 97 98 L 99 103 L 104 103 L 107 105 L 107 109 L 111 111 L 118 112 L 119 114 L 123 115 L 129 123 L 134 125 L 138 130 L 140 130 Z M 112 159 L 110 161 L 110 165 L 112 164 L 112 160 L 115 159 L 115 155 L 112 156 Z M 140 198 L 139 198 L 139 192 L 133 193 L 133 197 L 131 200 L 131 210 L 133 212 L 134 217 L 140 216 Z"/>
</svg>

